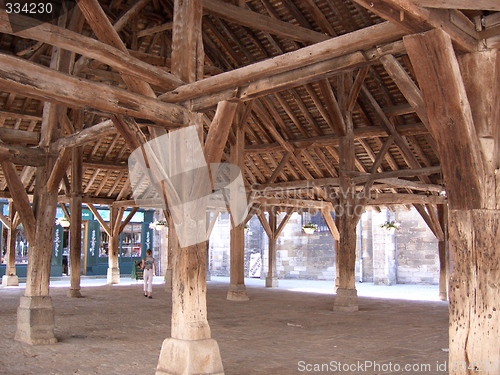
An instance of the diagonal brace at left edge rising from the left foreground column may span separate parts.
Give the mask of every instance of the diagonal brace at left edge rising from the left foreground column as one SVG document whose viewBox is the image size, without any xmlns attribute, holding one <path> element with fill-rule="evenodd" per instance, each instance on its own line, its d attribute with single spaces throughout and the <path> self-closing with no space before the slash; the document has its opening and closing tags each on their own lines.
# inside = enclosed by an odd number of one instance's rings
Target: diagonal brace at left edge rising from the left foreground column
<svg viewBox="0 0 500 375">
<path fill-rule="evenodd" d="M 34 243 L 36 233 L 36 220 L 31 208 L 26 189 L 17 174 L 14 164 L 2 161 L 0 162 L 3 170 L 3 176 L 7 181 L 9 192 L 14 200 L 14 205 L 23 223 L 24 231 L 29 243 Z"/>
</svg>

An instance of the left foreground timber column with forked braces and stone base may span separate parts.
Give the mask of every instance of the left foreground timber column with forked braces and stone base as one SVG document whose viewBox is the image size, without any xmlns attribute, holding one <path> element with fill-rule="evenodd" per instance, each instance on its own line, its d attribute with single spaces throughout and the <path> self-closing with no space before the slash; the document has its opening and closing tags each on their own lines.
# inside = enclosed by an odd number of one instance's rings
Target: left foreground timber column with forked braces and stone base
<svg viewBox="0 0 500 375">
<path fill-rule="evenodd" d="M 57 112 L 57 106 L 45 104 L 40 142 L 45 147 L 48 147 L 52 137 L 57 136 L 60 129 Z M 30 244 L 26 289 L 17 309 L 15 339 L 33 345 L 57 342 L 54 336 L 54 308 L 49 296 L 49 278 L 57 186 L 60 182 L 58 176 L 59 172 L 67 168 L 65 160 L 66 157 L 63 155 L 59 158 L 49 156 L 45 160 L 45 165 L 37 167 L 32 205 L 15 166 L 9 162 L 2 162 L 9 191 Z"/>
</svg>

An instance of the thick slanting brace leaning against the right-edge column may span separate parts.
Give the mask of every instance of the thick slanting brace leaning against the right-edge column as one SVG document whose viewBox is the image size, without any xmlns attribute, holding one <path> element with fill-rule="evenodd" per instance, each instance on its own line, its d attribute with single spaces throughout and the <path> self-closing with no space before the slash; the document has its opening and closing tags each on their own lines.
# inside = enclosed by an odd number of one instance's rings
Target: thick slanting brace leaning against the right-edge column
<svg viewBox="0 0 500 375">
<path fill-rule="evenodd" d="M 482 207 L 485 168 L 451 38 L 433 30 L 408 36 L 404 43 L 438 142 L 450 208 Z"/>
</svg>

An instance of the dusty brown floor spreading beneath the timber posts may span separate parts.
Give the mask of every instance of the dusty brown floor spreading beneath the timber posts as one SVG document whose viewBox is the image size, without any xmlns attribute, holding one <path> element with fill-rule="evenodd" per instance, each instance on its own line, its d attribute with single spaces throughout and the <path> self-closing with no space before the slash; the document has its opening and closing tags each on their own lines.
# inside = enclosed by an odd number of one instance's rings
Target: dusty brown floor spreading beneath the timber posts
<svg viewBox="0 0 500 375">
<path fill-rule="evenodd" d="M 226 375 L 447 373 L 448 304 L 435 286 L 360 284 L 359 311 L 339 313 L 331 281 L 279 280 L 276 289 L 245 282 L 247 302 L 226 300 L 227 278 L 208 282 Z M 151 300 L 130 279 L 104 283 L 82 279 L 84 298 L 76 299 L 66 296 L 67 280 L 51 282 L 59 342 L 48 346 L 13 340 L 23 285 L 0 287 L 0 374 L 154 374 L 170 330 L 170 293 L 161 278 Z M 380 297 L 412 294 L 430 301 Z"/>
</svg>

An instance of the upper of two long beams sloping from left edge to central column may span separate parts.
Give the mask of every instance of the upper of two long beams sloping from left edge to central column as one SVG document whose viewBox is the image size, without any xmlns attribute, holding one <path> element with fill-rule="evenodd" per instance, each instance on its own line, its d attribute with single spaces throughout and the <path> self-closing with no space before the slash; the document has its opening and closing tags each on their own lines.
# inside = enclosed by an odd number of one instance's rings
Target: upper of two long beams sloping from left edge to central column
<svg viewBox="0 0 500 375">
<path fill-rule="evenodd" d="M 13 31 L 13 28 L 19 30 Z M 125 72 L 153 85 L 172 89 L 183 82 L 163 69 L 154 67 L 132 57 L 128 53 L 78 33 L 52 25 L 40 23 L 32 18 L 13 17 L 0 9 L 0 32 L 26 39 L 38 40 L 83 56 L 96 59 L 119 72 Z"/>
</svg>

